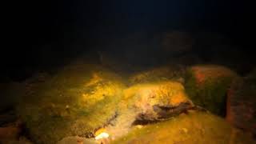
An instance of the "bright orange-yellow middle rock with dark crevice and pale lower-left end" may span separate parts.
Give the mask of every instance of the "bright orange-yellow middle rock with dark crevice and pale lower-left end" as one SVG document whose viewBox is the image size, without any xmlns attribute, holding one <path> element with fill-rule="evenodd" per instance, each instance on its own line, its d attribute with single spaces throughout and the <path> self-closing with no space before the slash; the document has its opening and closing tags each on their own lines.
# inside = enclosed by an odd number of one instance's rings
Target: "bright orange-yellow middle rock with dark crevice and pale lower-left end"
<svg viewBox="0 0 256 144">
<path fill-rule="evenodd" d="M 179 82 L 162 81 L 130 86 L 123 91 L 118 116 L 105 127 L 110 139 L 127 134 L 134 125 L 160 122 L 193 108 Z"/>
</svg>

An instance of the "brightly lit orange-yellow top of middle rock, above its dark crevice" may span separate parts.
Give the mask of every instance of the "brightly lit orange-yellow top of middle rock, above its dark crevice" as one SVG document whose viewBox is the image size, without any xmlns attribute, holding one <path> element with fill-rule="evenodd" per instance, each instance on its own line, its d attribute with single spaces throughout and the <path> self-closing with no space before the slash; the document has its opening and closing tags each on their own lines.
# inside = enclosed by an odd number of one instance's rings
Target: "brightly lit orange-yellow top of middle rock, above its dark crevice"
<svg viewBox="0 0 256 144">
<path fill-rule="evenodd" d="M 189 99 L 179 82 L 166 81 L 138 84 L 124 90 L 123 101 L 134 100 L 134 106 L 143 108 L 146 105 L 178 106 Z"/>
</svg>

